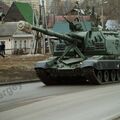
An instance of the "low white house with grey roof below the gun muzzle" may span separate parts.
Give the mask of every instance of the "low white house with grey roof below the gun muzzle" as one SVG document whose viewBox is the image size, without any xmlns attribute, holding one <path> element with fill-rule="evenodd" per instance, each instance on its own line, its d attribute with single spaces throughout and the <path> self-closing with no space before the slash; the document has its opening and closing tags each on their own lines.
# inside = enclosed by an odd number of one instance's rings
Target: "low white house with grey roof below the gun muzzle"
<svg viewBox="0 0 120 120">
<path fill-rule="evenodd" d="M 33 34 L 17 30 L 16 22 L 0 24 L 0 43 L 5 43 L 6 54 L 30 53 L 33 44 Z"/>
</svg>

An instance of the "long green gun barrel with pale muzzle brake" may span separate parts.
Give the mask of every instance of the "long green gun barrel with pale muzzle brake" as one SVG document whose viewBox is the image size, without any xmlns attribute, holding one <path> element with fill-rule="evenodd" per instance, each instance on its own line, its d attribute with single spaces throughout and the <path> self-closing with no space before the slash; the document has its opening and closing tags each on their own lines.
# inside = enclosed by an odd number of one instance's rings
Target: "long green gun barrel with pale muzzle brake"
<svg viewBox="0 0 120 120">
<path fill-rule="evenodd" d="M 35 30 L 35 31 L 39 31 L 39 32 L 41 32 L 45 35 L 54 36 L 54 37 L 66 40 L 68 42 L 73 42 L 74 41 L 74 38 L 72 38 L 71 36 L 69 36 L 67 34 L 60 34 L 60 33 L 53 32 L 51 30 L 47 30 L 47 29 L 44 29 L 44 28 L 41 28 L 41 27 L 32 26 L 31 24 L 29 24 L 27 22 L 24 22 L 24 21 L 18 22 L 17 27 L 20 31 L 24 31 L 24 32 L 27 32 L 27 33 L 31 33 L 32 30 Z"/>
</svg>

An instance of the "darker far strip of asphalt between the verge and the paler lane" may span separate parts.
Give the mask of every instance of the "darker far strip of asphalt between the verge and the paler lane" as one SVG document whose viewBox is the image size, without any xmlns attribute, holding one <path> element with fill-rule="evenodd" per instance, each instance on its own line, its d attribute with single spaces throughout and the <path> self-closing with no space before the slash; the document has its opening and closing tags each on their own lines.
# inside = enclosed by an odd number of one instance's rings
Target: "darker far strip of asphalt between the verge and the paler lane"
<svg viewBox="0 0 120 120">
<path fill-rule="evenodd" d="M 82 92 L 100 86 L 45 86 L 42 82 L 0 86 L 0 112 L 36 101 L 69 93 Z"/>
</svg>

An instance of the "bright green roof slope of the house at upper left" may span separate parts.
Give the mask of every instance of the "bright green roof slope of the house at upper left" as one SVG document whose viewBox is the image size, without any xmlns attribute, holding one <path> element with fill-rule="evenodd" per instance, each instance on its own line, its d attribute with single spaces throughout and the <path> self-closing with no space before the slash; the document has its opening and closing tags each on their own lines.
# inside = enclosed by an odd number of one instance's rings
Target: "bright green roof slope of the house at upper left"
<svg viewBox="0 0 120 120">
<path fill-rule="evenodd" d="M 33 24 L 33 10 L 29 3 L 15 2 L 21 15 L 24 17 L 25 21 Z"/>
</svg>

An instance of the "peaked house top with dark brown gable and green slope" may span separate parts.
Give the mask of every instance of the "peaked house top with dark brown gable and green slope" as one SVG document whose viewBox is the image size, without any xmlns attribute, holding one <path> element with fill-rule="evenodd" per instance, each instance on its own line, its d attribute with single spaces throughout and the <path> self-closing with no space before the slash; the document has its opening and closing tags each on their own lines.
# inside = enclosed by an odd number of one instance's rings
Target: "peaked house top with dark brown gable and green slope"
<svg viewBox="0 0 120 120">
<path fill-rule="evenodd" d="M 4 21 L 5 22 L 16 22 L 24 20 L 29 23 L 33 23 L 33 10 L 29 3 L 13 2 L 10 9 L 8 10 Z"/>
</svg>

